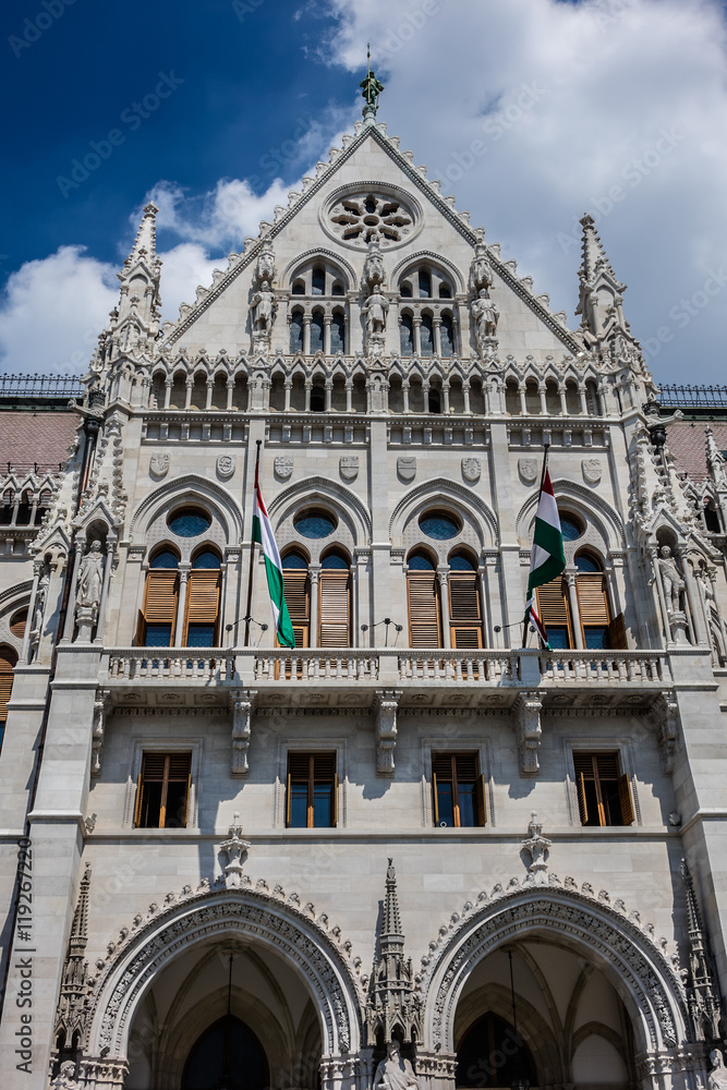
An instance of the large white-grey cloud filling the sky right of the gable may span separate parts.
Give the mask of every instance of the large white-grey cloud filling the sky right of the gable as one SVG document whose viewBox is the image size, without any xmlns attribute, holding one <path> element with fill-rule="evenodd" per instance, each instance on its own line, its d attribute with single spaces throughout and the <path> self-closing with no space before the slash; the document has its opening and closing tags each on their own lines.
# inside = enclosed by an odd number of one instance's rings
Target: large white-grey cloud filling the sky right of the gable
<svg viewBox="0 0 727 1090">
<path fill-rule="evenodd" d="M 338 29 L 322 56 L 358 75 L 372 43 L 389 132 L 571 325 L 587 209 L 630 284 L 626 313 L 656 377 L 726 380 L 727 287 L 701 306 L 727 234 L 716 0 L 330 7 Z"/>
</svg>

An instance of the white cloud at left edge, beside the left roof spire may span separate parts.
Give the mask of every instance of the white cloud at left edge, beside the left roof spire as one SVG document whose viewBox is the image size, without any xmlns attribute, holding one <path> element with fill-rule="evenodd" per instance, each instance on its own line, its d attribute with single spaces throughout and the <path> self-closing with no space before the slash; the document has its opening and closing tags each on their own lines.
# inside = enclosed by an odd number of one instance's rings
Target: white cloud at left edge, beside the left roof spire
<svg viewBox="0 0 727 1090">
<path fill-rule="evenodd" d="M 12 272 L 0 300 L 0 361 L 11 374 L 82 374 L 119 300 L 117 270 L 61 246 Z"/>
</svg>

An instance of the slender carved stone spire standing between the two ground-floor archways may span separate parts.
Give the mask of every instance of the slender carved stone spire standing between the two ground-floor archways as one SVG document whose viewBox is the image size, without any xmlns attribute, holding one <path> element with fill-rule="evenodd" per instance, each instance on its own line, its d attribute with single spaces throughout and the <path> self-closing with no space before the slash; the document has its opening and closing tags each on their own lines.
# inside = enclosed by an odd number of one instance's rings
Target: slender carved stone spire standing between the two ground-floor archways
<svg viewBox="0 0 727 1090">
<path fill-rule="evenodd" d="M 419 1040 L 420 1008 L 414 994 L 411 958 L 404 958 L 404 936 L 399 917 L 397 875 L 393 860 L 386 872 L 386 896 L 378 938 L 378 957 L 374 958 L 366 1012 L 368 1043 L 379 1036 L 385 1043 L 395 1037 L 402 1042 Z"/>
</svg>

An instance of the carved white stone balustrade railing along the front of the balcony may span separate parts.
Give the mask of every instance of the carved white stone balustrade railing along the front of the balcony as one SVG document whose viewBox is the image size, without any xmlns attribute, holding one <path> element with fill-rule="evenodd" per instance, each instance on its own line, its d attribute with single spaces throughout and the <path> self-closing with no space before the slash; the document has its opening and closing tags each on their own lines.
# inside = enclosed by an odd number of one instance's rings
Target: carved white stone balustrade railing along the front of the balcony
<svg viewBox="0 0 727 1090">
<path fill-rule="evenodd" d="M 114 647 L 107 653 L 102 673 L 108 682 L 120 686 L 215 682 L 347 687 L 363 681 L 404 688 L 656 688 L 671 681 L 666 656 L 659 651 Z"/>
</svg>

